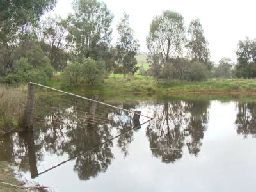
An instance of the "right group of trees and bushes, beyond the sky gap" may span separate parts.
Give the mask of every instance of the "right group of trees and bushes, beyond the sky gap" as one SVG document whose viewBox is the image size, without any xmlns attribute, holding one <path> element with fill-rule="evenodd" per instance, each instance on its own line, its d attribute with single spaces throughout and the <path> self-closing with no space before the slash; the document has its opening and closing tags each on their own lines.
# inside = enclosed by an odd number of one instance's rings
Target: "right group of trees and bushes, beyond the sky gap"
<svg viewBox="0 0 256 192">
<path fill-rule="evenodd" d="M 141 69 L 141 74 L 150 74 L 156 79 L 189 81 L 256 77 L 256 40 L 239 41 L 237 63 L 222 58 L 218 65 L 210 61 L 208 45 L 199 19 L 192 20 L 186 30 L 182 15 L 164 11 L 152 19 L 147 36 L 148 61 L 152 65 L 148 72 Z"/>
</svg>

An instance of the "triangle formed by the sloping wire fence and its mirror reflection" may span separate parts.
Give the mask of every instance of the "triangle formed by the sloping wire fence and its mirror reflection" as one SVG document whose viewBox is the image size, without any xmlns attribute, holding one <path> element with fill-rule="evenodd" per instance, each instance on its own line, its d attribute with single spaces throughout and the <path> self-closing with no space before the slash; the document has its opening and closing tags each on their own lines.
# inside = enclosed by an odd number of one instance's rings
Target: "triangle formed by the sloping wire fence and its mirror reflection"
<svg viewBox="0 0 256 192">
<path fill-rule="evenodd" d="M 38 89 L 50 90 L 40 92 Z M 54 91 L 52 94 L 51 91 Z M 59 92 L 56 95 L 55 92 Z M 125 108 L 125 107 L 124 107 Z M 31 177 L 52 170 L 95 148 L 105 150 L 115 138 L 140 128 L 150 116 L 41 84 L 28 84 L 26 129 Z M 106 147 L 104 147 L 106 146 Z M 107 158 L 108 159 L 108 158 Z"/>
</svg>

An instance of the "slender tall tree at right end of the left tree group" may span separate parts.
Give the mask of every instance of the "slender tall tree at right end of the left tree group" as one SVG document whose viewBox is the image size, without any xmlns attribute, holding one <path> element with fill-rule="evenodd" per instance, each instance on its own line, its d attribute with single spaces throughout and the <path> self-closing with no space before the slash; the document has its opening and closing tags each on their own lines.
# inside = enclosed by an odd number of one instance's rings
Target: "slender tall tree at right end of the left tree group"
<svg viewBox="0 0 256 192">
<path fill-rule="evenodd" d="M 129 26 L 129 15 L 127 13 L 124 13 L 118 23 L 117 30 L 119 33 L 116 45 L 118 65 L 122 68 L 124 76 L 129 72 L 134 74 L 138 70 L 135 56 L 138 53 L 140 45 L 138 44 L 138 40 L 134 39 L 134 31 Z"/>
</svg>

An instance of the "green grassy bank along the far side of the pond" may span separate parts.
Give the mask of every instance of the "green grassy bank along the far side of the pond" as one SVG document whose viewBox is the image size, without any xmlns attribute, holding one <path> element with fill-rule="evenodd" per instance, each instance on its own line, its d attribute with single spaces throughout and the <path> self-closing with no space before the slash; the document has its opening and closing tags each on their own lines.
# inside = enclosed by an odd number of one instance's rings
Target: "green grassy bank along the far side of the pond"
<svg viewBox="0 0 256 192">
<path fill-rule="evenodd" d="M 49 86 L 76 93 L 225 93 L 256 95 L 256 79 L 209 79 L 207 81 L 159 80 L 149 76 L 124 77 L 113 74 L 95 86 L 65 86 L 60 76 L 49 81 Z"/>
</svg>

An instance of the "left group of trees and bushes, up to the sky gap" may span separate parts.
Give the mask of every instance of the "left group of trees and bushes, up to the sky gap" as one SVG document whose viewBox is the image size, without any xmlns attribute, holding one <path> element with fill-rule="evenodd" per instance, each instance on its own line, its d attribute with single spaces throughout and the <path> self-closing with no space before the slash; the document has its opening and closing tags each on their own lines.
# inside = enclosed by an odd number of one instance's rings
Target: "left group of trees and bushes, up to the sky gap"
<svg viewBox="0 0 256 192">
<path fill-rule="evenodd" d="M 2 83 L 45 83 L 54 70 L 66 83 L 102 82 L 111 72 L 134 74 L 140 45 L 124 13 L 111 45 L 113 14 L 97 0 L 74 0 L 73 14 L 45 17 L 56 0 L 1 1 Z"/>
</svg>

